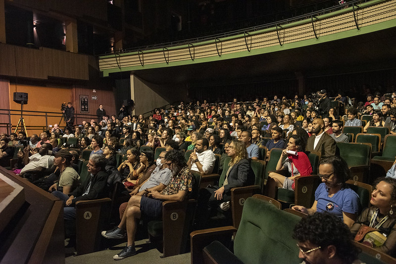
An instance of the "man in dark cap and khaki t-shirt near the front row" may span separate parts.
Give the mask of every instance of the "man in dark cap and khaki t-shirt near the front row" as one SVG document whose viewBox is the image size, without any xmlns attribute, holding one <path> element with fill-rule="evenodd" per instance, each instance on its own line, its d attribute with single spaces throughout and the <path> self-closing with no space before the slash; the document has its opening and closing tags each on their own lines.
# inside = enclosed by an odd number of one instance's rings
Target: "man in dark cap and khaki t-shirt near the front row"
<svg viewBox="0 0 396 264">
<path fill-rule="evenodd" d="M 61 149 L 55 154 L 53 165 L 60 171 L 59 180 L 49 187 L 49 191 L 57 190 L 69 194 L 80 184 L 80 176 L 71 167 L 73 155 L 66 149 Z"/>
</svg>

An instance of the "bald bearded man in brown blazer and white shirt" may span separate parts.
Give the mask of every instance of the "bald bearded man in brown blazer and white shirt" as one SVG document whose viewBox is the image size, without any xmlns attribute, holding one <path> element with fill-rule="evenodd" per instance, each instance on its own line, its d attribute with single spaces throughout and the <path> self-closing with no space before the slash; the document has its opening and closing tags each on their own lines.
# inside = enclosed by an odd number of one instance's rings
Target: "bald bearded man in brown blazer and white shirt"
<svg viewBox="0 0 396 264">
<path fill-rule="evenodd" d="M 306 151 L 320 152 L 322 158 L 336 154 L 336 141 L 324 132 L 324 127 L 323 120 L 315 118 L 312 121 L 312 135 L 308 138 L 306 144 Z"/>
</svg>

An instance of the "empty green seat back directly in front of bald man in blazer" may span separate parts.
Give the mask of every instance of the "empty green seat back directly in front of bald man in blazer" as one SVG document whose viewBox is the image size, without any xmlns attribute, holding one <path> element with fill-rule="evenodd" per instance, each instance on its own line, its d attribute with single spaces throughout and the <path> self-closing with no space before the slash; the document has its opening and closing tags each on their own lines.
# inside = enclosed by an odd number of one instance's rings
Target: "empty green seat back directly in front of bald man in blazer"
<svg viewBox="0 0 396 264">
<path fill-rule="evenodd" d="M 340 156 L 347 162 L 348 167 L 370 165 L 371 145 L 368 143 L 337 142 Z"/>
</svg>

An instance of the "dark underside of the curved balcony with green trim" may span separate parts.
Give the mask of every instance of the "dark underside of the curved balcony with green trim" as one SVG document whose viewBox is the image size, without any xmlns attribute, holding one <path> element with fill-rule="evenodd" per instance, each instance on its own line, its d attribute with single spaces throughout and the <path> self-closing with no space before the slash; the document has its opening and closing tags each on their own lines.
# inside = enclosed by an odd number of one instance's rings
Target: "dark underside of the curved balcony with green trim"
<svg viewBox="0 0 396 264">
<path fill-rule="evenodd" d="M 131 73 L 153 84 L 296 79 L 396 68 L 396 27 L 343 40 L 243 58 Z M 125 76 L 125 75 L 124 75 Z"/>
</svg>

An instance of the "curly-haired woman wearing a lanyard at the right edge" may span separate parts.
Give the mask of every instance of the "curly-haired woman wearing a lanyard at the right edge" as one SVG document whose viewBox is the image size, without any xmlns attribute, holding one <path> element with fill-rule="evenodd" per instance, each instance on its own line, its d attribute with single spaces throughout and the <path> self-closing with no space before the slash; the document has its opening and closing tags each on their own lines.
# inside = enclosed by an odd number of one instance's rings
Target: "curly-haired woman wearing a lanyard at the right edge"
<svg viewBox="0 0 396 264">
<path fill-rule="evenodd" d="M 379 178 L 371 194 L 370 203 L 372 206 L 363 210 L 350 231 L 355 235 L 361 233 L 358 230 L 364 229 L 364 226 L 377 229 L 386 239 L 382 245 L 371 244 L 367 241 L 367 235 L 363 235 L 360 239 L 356 236 L 355 241 L 358 240 L 396 257 L 396 179 Z"/>
</svg>

